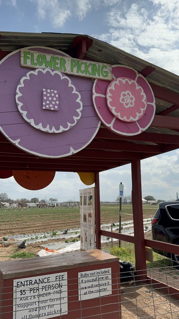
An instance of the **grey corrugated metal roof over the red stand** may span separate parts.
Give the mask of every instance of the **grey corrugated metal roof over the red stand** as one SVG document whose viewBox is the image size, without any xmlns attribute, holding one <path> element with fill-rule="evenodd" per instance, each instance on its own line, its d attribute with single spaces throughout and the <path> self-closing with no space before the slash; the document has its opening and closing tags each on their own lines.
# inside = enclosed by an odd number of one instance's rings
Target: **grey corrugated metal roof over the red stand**
<svg viewBox="0 0 179 319">
<path fill-rule="evenodd" d="M 88 37 L 93 41 L 88 49 L 86 57 L 95 61 L 110 64 L 124 64 L 141 72 L 147 66 L 155 68 L 146 79 L 156 85 L 163 86 L 174 92 L 179 93 L 179 76 L 167 70 L 164 70 L 152 63 L 144 61 L 132 54 L 129 54 L 119 48 L 106 42 L 90 37 L 86 34 L 73 33 L 21 33 L 21 32 L 0 32 L 0 50 L 14 51 L 18 48 L 38 45 L 50 48 L 56 48 L 67 52 L 76 37 Z M 156 99 L 156 114 L 171 107 L 171 103 Z M 179 110 L 173 111 L 171 116 L 179 117 Z M 149 128 L 148 132 L 167 133 L 178 135 L 176 131 Z"/>
</svg>

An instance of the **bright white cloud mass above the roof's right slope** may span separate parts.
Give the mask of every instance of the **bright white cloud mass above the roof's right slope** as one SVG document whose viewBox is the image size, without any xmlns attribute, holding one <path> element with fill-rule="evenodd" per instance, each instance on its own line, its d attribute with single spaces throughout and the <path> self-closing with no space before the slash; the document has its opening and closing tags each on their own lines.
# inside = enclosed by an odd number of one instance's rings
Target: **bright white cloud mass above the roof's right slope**
<svg viewBox="0 0 179 319">
<path fill-rule="evenodd" d="M 136 1 L 111 8 L 109 31 L 95 36 L 118 48 L 179 74 L 179 1 Z"/>
</svg>

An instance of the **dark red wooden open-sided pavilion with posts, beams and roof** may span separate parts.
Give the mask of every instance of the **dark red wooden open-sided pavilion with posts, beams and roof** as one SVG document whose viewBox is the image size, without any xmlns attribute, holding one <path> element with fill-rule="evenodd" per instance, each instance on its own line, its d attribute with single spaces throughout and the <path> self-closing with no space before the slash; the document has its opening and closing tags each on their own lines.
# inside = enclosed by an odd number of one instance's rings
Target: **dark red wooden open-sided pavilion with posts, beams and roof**
<svg viewBox="0 0 179 319">
<path fill-rule="evenodd" d="M 144 238 L 140 173 L 141 159 L 179 148 L 179 76 L 108 43 L 81 34 L 0 32 L 0 60 L 14 50 L 37 44 L 61 50 L 78 59 L 131 67 L 147 79 L 154 92 L 156 112 L 152 124 L 145 132 L 135 136 L 122 136 L 109 131 L 101 124 L 96 137 L 85 149 L 66 158 L 41 158 L 26 153 L 0 133 L 0 169 L 95 173 L 96 247 L 101 247 L 101 235 L 134 243 L 136 270 L 140 271 L 141 276 L 143 275 L 141 278 L 145 279 L 146 259 L 141 256 L 145 256 L 146 247 L 179 254 L 179 247 L 176 245 Z M 0 95 L 0 112 L 3 100 L 4 96 Z M 0 125 L 2 124 L 0 117 Z M 128 163 L 131 163 L 132 170 L 134 236 L 100 229 L 99 173 Z M 157 280 L 154 282 L 161 286 Z M 165 284 L 162 284 L 162 287 L 168 289 Z M 169 289 L 179 296 L 177 289 Z"/>
</svg>

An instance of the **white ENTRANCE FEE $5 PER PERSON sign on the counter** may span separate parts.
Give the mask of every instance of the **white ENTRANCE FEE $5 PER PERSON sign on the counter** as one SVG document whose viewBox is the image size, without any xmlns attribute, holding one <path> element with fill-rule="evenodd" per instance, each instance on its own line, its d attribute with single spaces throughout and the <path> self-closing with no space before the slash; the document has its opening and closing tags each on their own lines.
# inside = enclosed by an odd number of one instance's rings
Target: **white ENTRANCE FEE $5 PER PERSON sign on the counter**
<svg viewBox="0 0 179 319">
<path fill-rule="evenodd" d="M 68 314 L 67 272 L 14 280 L 13 319 Z"/>
</svg>

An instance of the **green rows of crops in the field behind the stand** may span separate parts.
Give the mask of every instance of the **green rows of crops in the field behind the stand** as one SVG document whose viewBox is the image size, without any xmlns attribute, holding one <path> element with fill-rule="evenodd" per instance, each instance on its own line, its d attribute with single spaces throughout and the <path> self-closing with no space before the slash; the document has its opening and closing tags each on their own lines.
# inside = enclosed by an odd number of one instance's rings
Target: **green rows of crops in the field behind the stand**
<svg viewBox="0 0 179 319">
<path fill-rule="evenodd" d="M 156 206 L 143 205 L 144 218 L 154 216 Z M 118 206 L 101 206 L 101 223 L 118 222 Z M 0 209 L 0 236 L 31 234 L 80 227 L 80 210 L 77 207 L 28 208 L 25 210 Z M 122 205 L 122 221 L 132 220 L 132 205 Z"/>
</svg>

